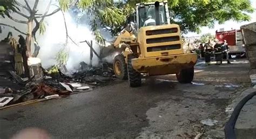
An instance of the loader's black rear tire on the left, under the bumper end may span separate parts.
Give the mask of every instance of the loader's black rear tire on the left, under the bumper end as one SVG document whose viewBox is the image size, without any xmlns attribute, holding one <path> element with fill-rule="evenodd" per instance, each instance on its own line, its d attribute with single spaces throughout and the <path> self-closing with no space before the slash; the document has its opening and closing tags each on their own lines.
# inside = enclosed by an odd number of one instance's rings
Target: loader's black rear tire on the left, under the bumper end
<svg viewBox="0 0 256 139">
<path fill-rule="evenodd" d="M 132 59 L 136 58 L 135 55 L 129 54 L 128 55 L 128 80 L 130 87 L 139 87 L 142 85 L 142 77 L 139 72 L 133 69 L 132 67 Z"/>
</svg>

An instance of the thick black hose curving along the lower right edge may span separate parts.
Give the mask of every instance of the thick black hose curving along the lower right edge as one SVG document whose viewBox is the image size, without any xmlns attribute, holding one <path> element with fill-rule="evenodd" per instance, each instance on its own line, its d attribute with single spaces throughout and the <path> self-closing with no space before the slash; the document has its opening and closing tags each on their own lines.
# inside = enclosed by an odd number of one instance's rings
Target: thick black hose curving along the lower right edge
<svg viewBox="0 0 256 139">
<path fill-rule="evenodd" d="M 227 139 L 231 139 L 231 138 L 234 139 L 234 138 L 236 138 L 235 137 L 235 131 L 234 131 L 235 122 L 237 122 L 237 119 L 238 119 L 238 116 L 239 116 L 239 113 L 240 113 L 242 107 L 244 107 L 245 103 L 248 100 L 252 99 L 254 95 L 256 95 L 256 92 L 248 94 L 234 108 L 234 111 L 231 114 L 230 120 L 228 120 L 228 122 L 225 125 L 225 136 L 226 136 Z"/>
</svg>

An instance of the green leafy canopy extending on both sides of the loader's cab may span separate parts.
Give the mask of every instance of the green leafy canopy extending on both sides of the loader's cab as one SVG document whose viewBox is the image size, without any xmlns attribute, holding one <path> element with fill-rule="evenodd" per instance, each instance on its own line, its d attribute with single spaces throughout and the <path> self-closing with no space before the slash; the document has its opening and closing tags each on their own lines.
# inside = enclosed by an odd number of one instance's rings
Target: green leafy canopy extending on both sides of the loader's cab
<svg viewBox="0 0 256 139">
<path fill-rule="evenodd" d="M 79 8 L 89 9 L 89 13 L 93 13 L 96 20 L 99 19 L 100 26 L 109 29 L 113 35 L 122 30 L 120 26 L 125 25 L 125 17 L 134 11 L 136 3 L 153 2 L 151 0 L 59 0 L 60 7 L 68 9 L 68 4 L 74 1 Z M 179 24 L 183 33 L 188 31 L 199 33 L 200 27 L 213 27 L 215 22 L 223 24 L 227 20 L 248 21 L 251 17 L 247 13 L 254 11 L 250 0 L 172 0 L 168 2 L 170 8 L 176 12 L 172 22 Z"/>
</svg>

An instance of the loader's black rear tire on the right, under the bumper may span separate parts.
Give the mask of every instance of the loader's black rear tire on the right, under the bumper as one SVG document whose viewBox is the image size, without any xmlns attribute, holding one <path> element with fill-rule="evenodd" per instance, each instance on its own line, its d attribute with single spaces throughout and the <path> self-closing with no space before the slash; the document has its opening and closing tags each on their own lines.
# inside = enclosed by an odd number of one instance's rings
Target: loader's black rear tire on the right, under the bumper
<svg viewBox="0 0 256 139">
<path fill-rule="evenodd" d="M 181 84 L 191 83 L 194 78 L 194 67 L 181 70 L 176 74 L 176 78 Z"/>
</svg>

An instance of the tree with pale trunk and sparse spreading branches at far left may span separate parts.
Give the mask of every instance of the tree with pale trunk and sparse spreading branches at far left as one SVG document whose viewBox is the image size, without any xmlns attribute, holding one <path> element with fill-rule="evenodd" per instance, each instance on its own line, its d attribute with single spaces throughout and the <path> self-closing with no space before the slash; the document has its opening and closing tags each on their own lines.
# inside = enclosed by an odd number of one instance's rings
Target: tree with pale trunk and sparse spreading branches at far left
<svg viewBox="0 0 256 139">
<path fill-rule="evenodd" d="M 9 26 L 12 29 L 14 29 L 14 30 L 18 31 L 19 33 L 26 36 L 26 39 L 24 39 L 24 37 L 22 35 L 19 35 L 19 37 L 20 37 L 19 43 L 22 48 L 21 53 L 22 53 L 23 65 L 24 65 L 26 77 L 29 76 L 28 58 L 32 57 L 32 54 L 31 54 L 32 38 L 34 39 L 34 42 L 35 42 L 34 43 L 35 44 L 35 53 L 34 53 L 35 55 L 33 55 L 33 56 L 36 57 L 39 52 L 39 48 L 40 48 L 37 43 L 37 40 L 36 40 L 37 31 L 40 30 L 40 32 L 43 33 L 45 31 L 45 25 L 43 23 L 44 18 L 51 16 L 51 15 L 57 13 L 58 11 L 60 11 L 60 8 L 57 8 L 52 13 L 48 14 L 48 11 L 49 11 L 51 3 L 52 3 L 52 0 L 50 0 L 45 12 L 43 14 L 39 14 L 39 13 L 37 13 L 38 12 L 38 9 L 37 9 L 38 2 L 39 2 L 39 0 L 35 0 L 35 3 L 33 4 L 33 6 L 29 5 L 28 0 L 24 0 L 25 4 L 22 4 L 19 1 L 15 1 L 15 0 L 4 0 L 4 1 L 1 1 L 1 3 L 0 3 L 0 5 L 2 5 L 1 6 L 2 7 L 2 16 L 6 16 L 9 19 L 13 20 L 14 22 L 26 24 L 28 26 L 28 29 L 25 33 L 23 31 L 17 29 L 17 27 L 15 27 L 15 26 L 0 23 L 0 25 Z M 21 12 L 19 10 L 21 8 L 28 11 L 29 14 L 26 15 L 25 13 Z M 11 12 L 17 13 L 19 16 L 25 18 L 25 20 L 19 20 L 19 19 L 12 17 L 10 14 Z"/>
</svg>

